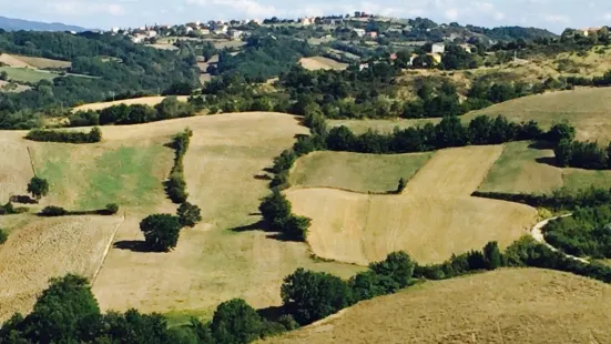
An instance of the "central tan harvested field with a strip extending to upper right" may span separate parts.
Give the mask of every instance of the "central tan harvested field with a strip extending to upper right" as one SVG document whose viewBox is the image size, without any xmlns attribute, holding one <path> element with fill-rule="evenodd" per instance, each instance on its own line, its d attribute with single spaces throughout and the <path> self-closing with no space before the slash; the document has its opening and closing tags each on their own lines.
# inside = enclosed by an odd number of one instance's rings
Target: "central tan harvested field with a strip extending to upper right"
<svg viewBox="0 0 611 344">
<path fill-rule="evenodd" d="M 297 214 L 313 219 L 308 243 L 324 259 L 360 265 L 404 250 L 434 263 L 489 241 L 509 245 L 534 224 L 536 210 L 471 198 L 502 146 L 442 150 L 400 195 L 367 195 L 330 189 L 286 192 Z"/>
</svg>

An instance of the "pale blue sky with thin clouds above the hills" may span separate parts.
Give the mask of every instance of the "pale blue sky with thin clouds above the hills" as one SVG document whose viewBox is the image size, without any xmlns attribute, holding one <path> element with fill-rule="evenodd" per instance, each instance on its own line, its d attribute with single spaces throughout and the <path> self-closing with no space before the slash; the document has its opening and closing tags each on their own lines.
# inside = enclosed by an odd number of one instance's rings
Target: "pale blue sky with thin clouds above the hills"
<svg viewBox="0 0 611 344">
<path fill-rule="evenodd" d="M 86 28 L 210 19 L 297 18 L 355 10 L 477 26 L 564 28 L 611 24 L 610 0 L 0 0 L 2 16 Z"/>
</svg>

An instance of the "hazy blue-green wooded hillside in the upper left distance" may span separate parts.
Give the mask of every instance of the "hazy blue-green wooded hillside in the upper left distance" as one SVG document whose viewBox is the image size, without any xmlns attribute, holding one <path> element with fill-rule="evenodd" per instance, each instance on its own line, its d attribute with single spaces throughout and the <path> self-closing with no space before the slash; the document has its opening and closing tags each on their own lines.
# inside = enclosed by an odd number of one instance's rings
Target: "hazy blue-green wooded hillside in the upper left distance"
<svg viewBox="0 0 611 344">
<path fill-rule="evenodd" d="M 172 84 L 197 85 L 195 55 L 134 44 L 123 36 L 64 32 L 0 32 L 0 51 L 71 61 L 71 73 L 32 84 L 22 93 L 0 92 L 0 128 L 38 127 L 39 111 L 63 115 L 61 109 L 103 101 L 112 94 L 159 94 Z"/>
</svg>

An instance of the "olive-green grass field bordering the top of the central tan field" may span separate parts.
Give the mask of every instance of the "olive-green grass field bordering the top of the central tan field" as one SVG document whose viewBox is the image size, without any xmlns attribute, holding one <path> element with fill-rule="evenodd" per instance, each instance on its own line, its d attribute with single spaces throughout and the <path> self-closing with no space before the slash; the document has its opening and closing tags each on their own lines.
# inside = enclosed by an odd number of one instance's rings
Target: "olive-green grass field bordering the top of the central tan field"
<svg viewBox="0 0 611 344">
<path fill-rule="evenodd" d="M 409 180 L 432 155 L 314 152 L 299 158 L 291 171 L 292 186 L 334 188 L 355 192 L 391 192 Z"/>
</svg>

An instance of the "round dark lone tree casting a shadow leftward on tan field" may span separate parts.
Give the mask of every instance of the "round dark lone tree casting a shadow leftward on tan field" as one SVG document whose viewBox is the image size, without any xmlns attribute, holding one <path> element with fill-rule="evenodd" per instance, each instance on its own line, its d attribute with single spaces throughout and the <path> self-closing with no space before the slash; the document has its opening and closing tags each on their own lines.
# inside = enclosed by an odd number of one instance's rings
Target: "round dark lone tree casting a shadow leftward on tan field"
<svg viewBox="0 0 611 344">
<path fill-rule="evenodd" d="M 144 241 L 151 250 L 159 252 L 176 247 L 181 229 L 180 219 L 171 214 L 150 215 L 140 223 Z"/>
</svg>

